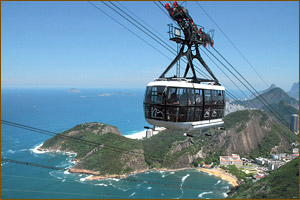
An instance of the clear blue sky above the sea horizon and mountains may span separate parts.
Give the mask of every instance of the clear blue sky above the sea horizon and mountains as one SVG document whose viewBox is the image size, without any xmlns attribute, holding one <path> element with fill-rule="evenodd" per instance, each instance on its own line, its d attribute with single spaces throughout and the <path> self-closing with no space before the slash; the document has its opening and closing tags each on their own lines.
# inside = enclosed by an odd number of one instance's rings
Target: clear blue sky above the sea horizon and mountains
<svg viewBox="0 0 300 200">
<path fill-rule="evenodd" d="M 86 1 L 2 1 L 1 88 L 145 88 L 159 77 L 175 55 L 102 2 L 93 3 L 152 47 Z M 299 81 L 298 1 L 199 1 L 267 85 L 195 2 L 181 3 L 196 24 L 215 30 L 215 48 L 258 91 L 272 83 L 288 91 Z M 176 48 L 167 33 L 172 21 L 154 2 L 115 4 Z M 236 89 L 203 58 L 222 84 Z"/>
</svg>

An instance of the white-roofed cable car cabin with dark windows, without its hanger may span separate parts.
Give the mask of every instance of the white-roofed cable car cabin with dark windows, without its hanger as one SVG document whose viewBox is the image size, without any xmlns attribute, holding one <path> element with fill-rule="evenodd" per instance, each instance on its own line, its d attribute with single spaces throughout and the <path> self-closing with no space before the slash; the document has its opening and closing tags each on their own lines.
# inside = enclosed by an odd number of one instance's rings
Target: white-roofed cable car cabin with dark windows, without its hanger
<svg viewBox="0 0 300 200">
<path fill-rule="evenodd" d="M 225 108 L 225 88 L 213 84 L 156 80 L 147 85 L 146 121 L 169 129 L 193 130 L 220 126 Z"/>
</svg>

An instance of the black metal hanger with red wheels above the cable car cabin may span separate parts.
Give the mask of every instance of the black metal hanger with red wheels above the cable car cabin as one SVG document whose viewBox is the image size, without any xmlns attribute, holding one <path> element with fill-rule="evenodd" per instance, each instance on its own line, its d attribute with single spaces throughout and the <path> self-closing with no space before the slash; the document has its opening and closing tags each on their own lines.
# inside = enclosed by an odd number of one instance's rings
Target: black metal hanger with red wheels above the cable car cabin
<svg viewBox="0 0 300 200">
<path fill-rule="evenodd" d="M 204 47 L 207 46 L 207 44 L 210 44 L 211 46 L 214 45 L 214 41 L 210 34 L 205 33 L 203 31 L 203 27 L 197 28 L 197 25 L 194 24 L 193 19 L 188 14 L 188 10 L 185 9 L 182 6 L 179 6 L 177 2 L 174 2 L 174 7 L 170 7 L 170 4 L 166 4 L 166 9 L 168 10 L 170 16 L 172 19 L 174 19 L 180 29 L 184 33 L 184 38 L 181 37 L 180 34 L 178 34 L 178 28 L 173 29 L 173 24 L 169 24 L 169 37 L 170 40 L 176 42 L 177 44 L 181 44 L 181 49 L 175 59 L 171 62 L 171 64 L 167 67 L 167 69 L 161 74 L 159 78 L 165 78 L 165 75 L 170 71 L 170 69 L 183 57 L 185 56 L 187 58 L 187 66 L 184 72 L 183 77 L 186 79 L 192 79 L 192 82 L 195 83 L 201 83 L 201 82 L 214 82 L 215 85 L 220 85 L 218 79 L 215 77 L 213 72 L 210 70 L 210 68 L 207 66 L 207 64 L 204 62 L 203 58 L 200 55 L 199 47 L 203 45 Z M 176 30 L 177 29 L 177 30 Z M 175 30 L 175 34 L 173 32 Z M 213 33 L 213 30 L 209 31 Z M 180 32 L 179 32 L 180 33 Z M 187 48 L 186 48 L 187 47 Z M 196 53 L 193 54 L 192 47 L 195 47 Z M 184 51 L 184 49 L 187 49 Z M 193 60 L 197 59 L 201 65 L 205 68 L 205 70 L 210 74 L 210 76 L 213 78 L 213 80 L 209 79 L 201 79 L 198 78 L 196 75 L 196 71 L 193 65 Z M 193 77 L 187 77 L 188 71 L 191 69 L 193 73 Z M 180 77 L 176 77 L 180 78 Z"/>
</svg>

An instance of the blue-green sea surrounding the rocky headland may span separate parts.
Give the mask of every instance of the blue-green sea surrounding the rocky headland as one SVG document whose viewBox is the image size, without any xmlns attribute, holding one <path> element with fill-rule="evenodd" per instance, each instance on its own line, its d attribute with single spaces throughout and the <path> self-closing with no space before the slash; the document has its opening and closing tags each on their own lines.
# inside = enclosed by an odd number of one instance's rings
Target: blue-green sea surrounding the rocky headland
<svg viewBox="0 0 300 200">
<path fill-rule="evenodd" d="M 56 133 L 81 123 L 102 122 L 129 135 L 148 125 L 143 96 L 144 89 L 80 89 L 79 93 L 68 89 L 1 89 L 1 119 Z M 1 157 L 64 168 L 74 165 L 74 155 L 36 150 L 50 137 L 1 124 Z M 1 198 L 222 199 L 231 186 L 197 170 L 147 171 L 126 179 L 97 181 L 87 177 L 2 161 Z"/>
</svg>

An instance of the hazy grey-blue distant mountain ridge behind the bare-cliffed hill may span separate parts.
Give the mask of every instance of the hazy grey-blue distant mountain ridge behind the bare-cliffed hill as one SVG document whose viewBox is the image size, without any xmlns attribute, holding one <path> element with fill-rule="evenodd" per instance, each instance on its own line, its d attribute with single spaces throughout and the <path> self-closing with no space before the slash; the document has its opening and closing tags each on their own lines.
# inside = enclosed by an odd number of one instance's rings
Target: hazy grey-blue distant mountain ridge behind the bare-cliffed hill
<svg viewBox="0 0 300 200">
<path fill-rule="evenodd" d="M 278 87 L 273 88 L 273 89 L 269 90 L 268 92 L 263 93 L 254 99 L 243 101 L 243 103 L 251 108 L 262 109 L 265 106 L 261 102 L 261 100 L 263 101 L 263 99 L 268 104 L 277 104 L 280 101 L 284 100 L 285 102 L 289 103 L 291 106 L 293 106 L 297 109 L 299 107 L 299 101 L 290 97 L 287 93 L 285 93 L 281 88 L 278 88 Z M 239 102 L 236 102 L 236 103 L 239 103 Z"/>
</svg>

